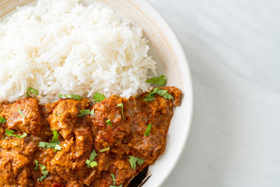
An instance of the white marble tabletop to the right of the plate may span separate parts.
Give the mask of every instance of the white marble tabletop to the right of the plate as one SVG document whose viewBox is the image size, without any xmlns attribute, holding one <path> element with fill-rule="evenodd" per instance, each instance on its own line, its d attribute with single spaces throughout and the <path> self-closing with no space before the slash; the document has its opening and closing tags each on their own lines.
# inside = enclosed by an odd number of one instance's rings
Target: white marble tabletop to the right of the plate
<svg viewBox="0 0 280 187">
<path fill-rule="evenodd" d="M 280 1 L 149 0 L 193 74 L 193 123 L 162 187 L 280 186 Z"/>
</svg>

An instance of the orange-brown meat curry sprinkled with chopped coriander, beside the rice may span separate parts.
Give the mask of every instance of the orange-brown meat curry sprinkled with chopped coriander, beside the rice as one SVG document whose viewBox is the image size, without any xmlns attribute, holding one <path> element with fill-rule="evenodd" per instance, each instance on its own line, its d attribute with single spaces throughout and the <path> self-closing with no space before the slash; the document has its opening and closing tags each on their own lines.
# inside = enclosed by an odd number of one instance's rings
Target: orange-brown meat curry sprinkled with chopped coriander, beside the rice
<svg viewBox="0 0 280 187">
<path fill-rule="evenodd" d="M 0 104 L 0 186 L 127 186 L 165 150 L 181 91 L 61 94 L 42 106 L 32 95 Z"/>
</svg>

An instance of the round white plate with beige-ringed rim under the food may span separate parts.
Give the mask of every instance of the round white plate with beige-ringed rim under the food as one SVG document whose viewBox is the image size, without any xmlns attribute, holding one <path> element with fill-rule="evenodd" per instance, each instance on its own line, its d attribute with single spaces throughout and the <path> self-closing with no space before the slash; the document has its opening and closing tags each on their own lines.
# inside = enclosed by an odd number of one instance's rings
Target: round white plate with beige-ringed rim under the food
<svg viewBox="0 0 280 187">
<path fill-rule="evenodd" d="M 35 0 L 1 0 L 0 18 L 15 9 L 15 6 L 29 4 Z M 174 109 L 174 116 L 167 134 L 165 152 L 154 165 L 149 167 L 151 177 L 145 187 L 160 186 L 179 160 L 183 151 L 193 111 L 193 90 L 188 62 L 181 45 L 162 15 L 146 0 L 97 0 L 113 8 L 123 18 L 131 20 L 134 25 L 144 29 L 150 40 L 150 55 L 158 62 L 158 74 L 165 74 L 167 85 L 174 85 L 183 92 L 181 105 Z M 83 0 L 91 4 L 93 0 Z"/>
</svg>

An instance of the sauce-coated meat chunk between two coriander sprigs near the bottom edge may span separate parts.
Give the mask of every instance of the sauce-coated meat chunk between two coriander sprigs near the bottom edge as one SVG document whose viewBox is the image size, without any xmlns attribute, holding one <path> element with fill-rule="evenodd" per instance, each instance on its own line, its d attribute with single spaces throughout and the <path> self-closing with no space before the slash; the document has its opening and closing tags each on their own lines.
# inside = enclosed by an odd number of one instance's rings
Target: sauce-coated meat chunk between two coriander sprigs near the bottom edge
<svg viewBox="0 0 280 187">
<path fill-rule="evenodd" d="M 85 160 L 90 158 L 92 152 L 92 132 L 90 127 L 74 130 L 75 139 L 64 140 L 60 144 L 61 151 L 55 153 L 54 158 L 48 162 L 48 169 L 52 174 L 57 174 L 65 181 L 80 181 L 90 173 L 85 165 Z"/>
</svg>

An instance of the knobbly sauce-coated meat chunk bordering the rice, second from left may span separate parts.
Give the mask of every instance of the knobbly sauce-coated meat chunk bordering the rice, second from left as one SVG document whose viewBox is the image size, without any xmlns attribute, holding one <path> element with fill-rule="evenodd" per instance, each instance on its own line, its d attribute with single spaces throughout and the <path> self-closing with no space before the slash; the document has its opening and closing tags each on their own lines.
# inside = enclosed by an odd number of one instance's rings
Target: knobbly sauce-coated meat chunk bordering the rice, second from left
<svg viewBox="0 0 280 187">
<path fill-rule="evenodd" d="M 59 131 L 64 139 L 71 139 L 74 128 L 80 125 L 78 113 L 89 106 L 88 99 L 80 101 L 73 99 L 60 100 L 49 116 L 50 128 Z"/>
</svg>

